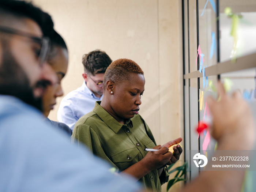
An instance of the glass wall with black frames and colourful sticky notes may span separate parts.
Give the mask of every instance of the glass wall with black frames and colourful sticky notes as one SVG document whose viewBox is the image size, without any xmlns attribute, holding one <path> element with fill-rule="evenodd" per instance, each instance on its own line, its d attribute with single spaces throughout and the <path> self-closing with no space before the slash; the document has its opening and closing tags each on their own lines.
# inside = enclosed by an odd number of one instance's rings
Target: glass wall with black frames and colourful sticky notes
<svg viewBox="0 0 256 192">
<path fill-rule="evenodd" d="M 256 1 L 183 0 L 182 9 L 184 153 L 189 166 L 191 150 L 217 147 L 208 129 L 200 135 L 195 129 L 210 114 L 206 98 L 217 97 L 218 79 L 227 92 L 239 89 L 246 101 L 256 103 Z M 191 169 L 187 179 L 199 173 Z"/>
</svg>

